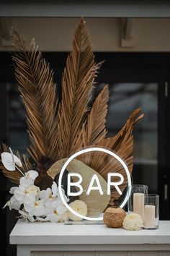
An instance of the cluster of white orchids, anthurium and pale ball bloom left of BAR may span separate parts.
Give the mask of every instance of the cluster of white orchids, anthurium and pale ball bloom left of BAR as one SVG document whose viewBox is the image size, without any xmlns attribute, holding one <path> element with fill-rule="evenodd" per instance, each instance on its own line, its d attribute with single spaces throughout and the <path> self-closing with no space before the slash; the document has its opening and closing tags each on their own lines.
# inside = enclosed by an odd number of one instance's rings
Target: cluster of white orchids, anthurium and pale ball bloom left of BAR
<svg viewBox="0 0 170 256">
<path fill-rule="evenodd" d="M 4 164 L 5 168 L 9 171 L 15 171 L 15 168 L 22 173 L 19 167 L 22 167 L 22 163 L 17 158 L 16 155 L 12 153 L 2 153 L 1 161 Z M 19 167 L 18 167 L 19 166 Z M 68 219 L 73 221 L 80 221 L 81 218 L 77 218 L 70 211 L 67 210 L 66 206 L 63 205 L 60 194 L 58 192 L 58 187 L 55 182 L 53 182 L 51 188 L 40 190 L 40 187 L 35 186 L 34 182 L 37 178 L 37 171 L 27 171 L 23 174 L 22 178 L 19 181 L 19 187 L 12 187 L 9 191 L 12 194 L 12 197 L 6 206 L 10 210 L 18 210 L 20 218 L 23 218 L 27 221 L 68 221 Z M 63 197 L 66 202 L 69 201 L 66 197 L 64 190 Z M 80 200 L 75 200 L 70 204 L 73 210 L 77 210 L 79 213 L 86 216 L 87 207 L 86 204 Z"/>
</svg>

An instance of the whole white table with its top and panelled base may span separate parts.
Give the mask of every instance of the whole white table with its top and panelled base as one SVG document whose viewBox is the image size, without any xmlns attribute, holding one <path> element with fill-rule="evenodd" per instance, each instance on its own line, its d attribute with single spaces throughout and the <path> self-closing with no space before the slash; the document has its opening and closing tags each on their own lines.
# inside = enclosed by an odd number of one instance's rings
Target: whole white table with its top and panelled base
<svg viewBox="0 0 170 256">
<path fill-rule="evenodd" d="M 170 221 L 154 231 L 126 231 L 101 225 L 25 223 L 19 220 L 10 234 L 17 256 L 167 256 Z"/>
</svg>

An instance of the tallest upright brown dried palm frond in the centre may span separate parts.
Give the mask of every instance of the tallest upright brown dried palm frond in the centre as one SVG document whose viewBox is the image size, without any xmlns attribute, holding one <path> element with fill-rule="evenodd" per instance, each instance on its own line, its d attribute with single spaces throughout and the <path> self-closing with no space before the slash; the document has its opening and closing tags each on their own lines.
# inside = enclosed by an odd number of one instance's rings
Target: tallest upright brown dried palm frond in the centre
<svg viewBox="0 0 170 256">
<path fill-rule="evenodd" d="M 62 79 L 58 111 L 58 151 L 65 158 L 80 148 L 79 134 L 86 119 L 87 103 L 99 65 L 95 64 L 89 33 L 83 18 L 73 39 Z"/>
</svg>

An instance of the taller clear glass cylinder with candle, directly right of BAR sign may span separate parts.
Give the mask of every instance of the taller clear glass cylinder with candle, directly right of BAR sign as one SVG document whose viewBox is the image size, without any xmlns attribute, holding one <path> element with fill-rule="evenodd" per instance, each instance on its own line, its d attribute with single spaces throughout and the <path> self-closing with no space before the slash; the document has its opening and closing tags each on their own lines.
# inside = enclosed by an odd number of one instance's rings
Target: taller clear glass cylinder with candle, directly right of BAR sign
<svg viewBox="0 0 170 256">
<path fill-rule="evenodd" d="M 144 218 L 144 202 L 145 195 L 148 195 L 148 186 L 146 185 L 132 185 L 128 187 L 130 193 L 128 199 L 128 213 L 138 213 Z"/>
</svg>

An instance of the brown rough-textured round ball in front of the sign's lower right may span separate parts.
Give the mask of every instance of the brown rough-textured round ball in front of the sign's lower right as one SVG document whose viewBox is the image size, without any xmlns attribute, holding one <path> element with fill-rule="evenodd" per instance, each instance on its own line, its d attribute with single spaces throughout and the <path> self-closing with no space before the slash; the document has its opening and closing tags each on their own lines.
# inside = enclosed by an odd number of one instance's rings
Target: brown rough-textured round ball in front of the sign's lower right
<svg viewBox="0 0 170 256">
<path fill-rule="evenodd" d="M 125 216 L 125 210 L 122 208 L 107 208 L 104 212 L 103 221 L 110 228 L 120 228 Z"/>
</svg>

